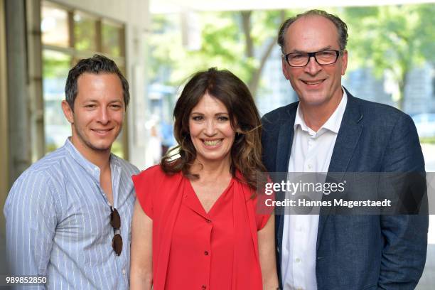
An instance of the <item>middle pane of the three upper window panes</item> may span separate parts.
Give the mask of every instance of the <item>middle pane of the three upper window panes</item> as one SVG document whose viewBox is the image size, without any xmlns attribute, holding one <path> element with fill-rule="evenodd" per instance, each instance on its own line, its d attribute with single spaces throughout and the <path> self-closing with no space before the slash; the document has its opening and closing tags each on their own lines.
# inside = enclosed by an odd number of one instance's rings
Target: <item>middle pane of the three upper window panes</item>
<svg viewBox="0 0 435 290">
<path fill-rule="evenodd" d="M 74 43 L 77 50 L 97 50 L 96 20 L 83 13 L 74 15 Z"/>
</svg>

